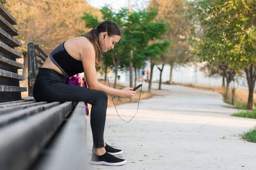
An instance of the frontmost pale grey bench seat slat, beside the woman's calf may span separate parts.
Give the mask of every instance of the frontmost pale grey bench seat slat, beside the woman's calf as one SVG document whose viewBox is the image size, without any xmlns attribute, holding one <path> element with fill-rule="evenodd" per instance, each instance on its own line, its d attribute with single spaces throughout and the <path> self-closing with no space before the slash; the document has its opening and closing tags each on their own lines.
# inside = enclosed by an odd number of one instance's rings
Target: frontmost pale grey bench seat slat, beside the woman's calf
<svg viewBox="0 0 256 170">
<path fill-rule="evenodd" d="M 44 155 L 43 155 L 44 156 Z M 84 102 L 79 102 L 36 170 L 87 169 Z"/>
</svg>

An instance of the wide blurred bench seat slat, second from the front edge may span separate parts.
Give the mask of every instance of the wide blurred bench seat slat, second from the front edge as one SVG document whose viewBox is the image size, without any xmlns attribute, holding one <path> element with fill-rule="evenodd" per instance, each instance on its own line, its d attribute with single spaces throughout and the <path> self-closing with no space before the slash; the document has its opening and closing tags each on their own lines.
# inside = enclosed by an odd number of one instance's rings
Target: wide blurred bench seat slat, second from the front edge
<svg viewBox="0 0 256 170">
<path fill-rule="evenodd" d="M 0 165 L 3 169 L 27 169 L 72 110 L 65 102 L 0 129 Z"/>
</svg>

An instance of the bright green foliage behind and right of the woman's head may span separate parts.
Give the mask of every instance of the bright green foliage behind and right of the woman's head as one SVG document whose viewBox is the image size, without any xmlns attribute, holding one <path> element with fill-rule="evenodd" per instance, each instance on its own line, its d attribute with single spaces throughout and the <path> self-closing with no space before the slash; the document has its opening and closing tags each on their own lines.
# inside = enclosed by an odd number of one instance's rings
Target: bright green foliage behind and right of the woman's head
<svg viewBox="0 0 256 170">
<path fill-rule="evenodd" d="M 110 68 L 116 66 L 121 69 L 126 68 L 130 62 L 133 62 L 134 67 L 142 68 L 148 58 L 156 58 L 170 45 L 170 41 L 164 41 L 149 46 L 149 41 L 159 39 L 169 27 L 163 20 L 155 19 L 158 15 L 158 10 L 155 8 L 129 13 L 126 8 L 115 12 L 111 7 L 105 6 L 100 11 L 103 20 L 116 22 L 122 32 L 122 37 L 114 49 L 103 53 Z M 92 16 L 91 13 L 84 12 L 82 19 L 86 22 L 86 27 L 94 28 L 99 24 L 97 17 Z M 129 58 L 130 50 L 133 50 L 132 61 Z"/>
</svg>

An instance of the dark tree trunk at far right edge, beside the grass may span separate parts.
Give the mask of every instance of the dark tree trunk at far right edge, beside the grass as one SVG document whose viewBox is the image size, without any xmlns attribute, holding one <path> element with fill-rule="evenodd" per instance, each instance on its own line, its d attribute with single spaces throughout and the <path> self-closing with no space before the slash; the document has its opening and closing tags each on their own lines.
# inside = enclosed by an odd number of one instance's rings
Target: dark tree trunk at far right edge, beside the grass
<svg viewBox="0 0 256 170">
<path fill-rule="evenodd" d="M 249 89 L 247 109 L 251 110 L 253 108 L 253 90 L 254 90 L 255 80 L 256 80 L 256 65 L 251 64 L 249 69 L 245 68 L 245 72 L 246 72 L 246 79 L 247 79 L 248 89 Z"/>
</svg>

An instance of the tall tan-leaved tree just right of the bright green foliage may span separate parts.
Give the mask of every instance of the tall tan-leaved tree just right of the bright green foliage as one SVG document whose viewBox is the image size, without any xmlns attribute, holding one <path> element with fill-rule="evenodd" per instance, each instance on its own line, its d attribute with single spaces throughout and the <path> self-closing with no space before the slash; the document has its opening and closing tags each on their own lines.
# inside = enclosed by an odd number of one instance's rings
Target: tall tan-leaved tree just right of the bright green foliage
<svg viewBox="0 0 256 170">
<path fill-rule="evenodd" d="M 159 9 L 157 19 L 163 19 L 165 23 L 170 25 L 169 31 L 164 34 L 161 39 L 168 39 L 172 44 L 168 48 L 168 52 L 161 55 L 162 68 L 163 63 L 168 63 L 171 66 L 170 84 L 172 84 L 173 67 L 176 64 L 185 65 L 193 61 L 193 57 L 188 55 L 188 38 L 194 32 L 194 26 L 187 18 L 186 12 L 189 5 L 184 0 L 152 0 L 150 7 Z M 161 69 L 160 77 L 161 77 Z M 160 83 L 161 84 L 161 83 Z M 161 85 L 159 84 L 159 89 Z"/>
</svg>

